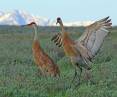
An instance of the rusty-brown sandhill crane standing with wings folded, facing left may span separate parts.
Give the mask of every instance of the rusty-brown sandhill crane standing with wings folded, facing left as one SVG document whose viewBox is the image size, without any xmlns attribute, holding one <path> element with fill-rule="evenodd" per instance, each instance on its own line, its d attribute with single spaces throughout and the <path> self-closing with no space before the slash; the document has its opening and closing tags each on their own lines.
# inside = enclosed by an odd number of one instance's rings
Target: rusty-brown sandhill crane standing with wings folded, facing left
<svg viewBox="0 0 117 97">
<path fill-rule="evenodd" d="M 59 67 L 54 63 L 54 61 L 43 51 L 40 46 L 37 37 L 37 24 L 35 22 L 31 22 L 27 24 L 28 26 L 32 26 L 34 28 L 34 41 L 32 44 L 32 51 L 34 56 L 34 61 L 38 65 L 39 70 L 42 72 L 44 76 L 60 76 Z"/>
</svg>

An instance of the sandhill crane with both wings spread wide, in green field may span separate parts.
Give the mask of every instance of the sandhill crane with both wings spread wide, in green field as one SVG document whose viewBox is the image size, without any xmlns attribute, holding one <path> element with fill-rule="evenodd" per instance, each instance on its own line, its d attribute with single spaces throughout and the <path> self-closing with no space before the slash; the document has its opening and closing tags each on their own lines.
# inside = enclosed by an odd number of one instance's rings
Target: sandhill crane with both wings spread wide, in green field
<svg viewBox="0 0 117 97">
<path fill-rule="evenodd" d="M 62 46 L 65 54 L 70 57 L 71 62 L 75 67 L 73 80 L 78 74 L 78 68 L 80 69 L 79 78 L 83 68 L 87 71 L 87 74 L 90 74 L 91 59 L 96 55 L 105 36 L 108 34 L 109 31 L 107 28 L 111 28 L 111 19 L 106 17 L 87 26 L 85 32 L 76 41 L 73 41 L 70 38 L 69 33 L 65 31 L 60 17 L 57 18 L 57 23 L 60 24 L 62 31 L 53 36 L 52 41 L 54 41 L 59 47 Z"/>
</svg>

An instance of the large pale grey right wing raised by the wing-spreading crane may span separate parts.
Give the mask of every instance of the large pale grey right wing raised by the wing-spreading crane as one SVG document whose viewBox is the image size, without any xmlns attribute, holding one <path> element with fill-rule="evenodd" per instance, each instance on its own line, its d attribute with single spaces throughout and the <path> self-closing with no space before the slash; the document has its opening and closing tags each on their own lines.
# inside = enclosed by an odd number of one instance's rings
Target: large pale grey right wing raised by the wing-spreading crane
<svg viewBox="0 0 117 97">
<path fill-rule="evenodd" d="M 111 28 L 111 25 L 111 19 L 108 16 L 87 26 L 83 35 L 76 41 L 77 46 L 80 44 L 80 46 L 82 45 L 87 48 L 90 52 L 89 57 L 92 58 L 98 52 L 105 36 L 109 32 L 107 28 Z"/>
</svg>

